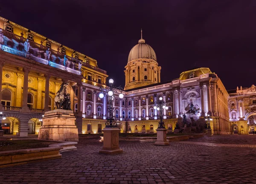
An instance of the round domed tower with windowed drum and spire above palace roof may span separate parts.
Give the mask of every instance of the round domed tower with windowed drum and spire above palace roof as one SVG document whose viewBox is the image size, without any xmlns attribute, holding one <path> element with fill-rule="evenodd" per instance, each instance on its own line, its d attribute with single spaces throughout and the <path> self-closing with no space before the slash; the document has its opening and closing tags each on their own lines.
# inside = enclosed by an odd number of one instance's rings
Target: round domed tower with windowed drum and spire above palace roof
<svg viewBox="0 0 256 184">
<path fill-rule="evenodd" d="M 125 90 L 160 82 L 160 70 L 153 48 L 142 38 L 129 54 L 125 66 Z"/>
</svg>

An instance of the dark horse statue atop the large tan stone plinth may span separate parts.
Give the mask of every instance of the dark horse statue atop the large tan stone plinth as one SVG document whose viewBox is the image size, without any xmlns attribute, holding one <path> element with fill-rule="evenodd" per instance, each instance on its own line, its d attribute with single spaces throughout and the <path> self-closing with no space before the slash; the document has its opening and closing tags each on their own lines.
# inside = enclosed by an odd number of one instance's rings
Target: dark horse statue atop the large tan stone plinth
<svg viewBox="0 0 256 184">
<path fill-rule="evenodd" d="M 54 108 L 56 107 L 57 109 L 61 109 L 61 107 L 63 106 L 62 109 L 64 110 L 71 110 L 70 94 L 67 93 L 67 86 L 68 83 L 63 82 L 61 84 L 61 87 L 54 98 Z"/>
</svg>

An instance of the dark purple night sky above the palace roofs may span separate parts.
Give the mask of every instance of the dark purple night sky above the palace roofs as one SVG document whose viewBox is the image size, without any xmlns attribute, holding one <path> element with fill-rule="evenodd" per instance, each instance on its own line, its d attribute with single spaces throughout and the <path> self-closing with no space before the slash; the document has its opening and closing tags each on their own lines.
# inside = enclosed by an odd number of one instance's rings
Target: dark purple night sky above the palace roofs
<svg viewBox="0 0 256 184">
<path fill-rule="evenodd" d="M 256 85 L 256 0 L 4 0 L 0 6 L 1 17 L 96 59 L 115 85 L 125 85 L 141 28 L 162 67 L 161 81 L 196 63 L 227 90 Z"/>
</svg>

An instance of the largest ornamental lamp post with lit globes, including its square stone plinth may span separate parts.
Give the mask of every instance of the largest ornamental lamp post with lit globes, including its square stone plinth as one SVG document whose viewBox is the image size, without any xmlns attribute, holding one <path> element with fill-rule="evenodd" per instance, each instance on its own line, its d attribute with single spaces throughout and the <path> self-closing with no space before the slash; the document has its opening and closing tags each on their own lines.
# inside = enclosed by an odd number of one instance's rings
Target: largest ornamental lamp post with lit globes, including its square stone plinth
<svg viewBox="0 0 256 184">
<path fill-rule="evenodd" d="M 105 122 L 105 128 L 103 129 L 103 148 L 99 150 L 99 153 L 115 154 L 122 153 L 122 149 L 119 148 L 119 133 L 118 123 L 114 117 L 114 93 L 119 93 L 119 98 L 122 99 L 124 95 L 122 94 L 123 88 L 121 86 L 115 87 L 113 85 L 114 80 L 109 79 L 109 86 L 101 86 L 99 89 L 99 97 L 102 99 L 108 95 L 108 118 Z"/>
</svg>

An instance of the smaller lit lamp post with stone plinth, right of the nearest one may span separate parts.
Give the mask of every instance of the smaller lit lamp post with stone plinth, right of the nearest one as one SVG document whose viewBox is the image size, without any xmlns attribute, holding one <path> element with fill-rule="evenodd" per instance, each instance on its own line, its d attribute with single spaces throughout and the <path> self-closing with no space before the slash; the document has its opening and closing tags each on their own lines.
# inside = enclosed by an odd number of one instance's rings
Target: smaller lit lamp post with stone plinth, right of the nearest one
<svg viewBox="0 0 256 184">
<path fill-rule="evenodd" d="M 167 129 L 163 122 L 163 110 L 167 110 L 168 107 L 163 97 L 160 97 L 159 100 L 155 102 L 154 109 L 158 110 L 160 114 L 160 122 L 158 122 L 157 127 L 157 142 L 155 142 L 155 145 L 169 145 L 169 141 L 166 140 Z"/>
</svg>

